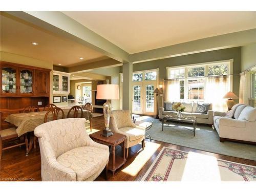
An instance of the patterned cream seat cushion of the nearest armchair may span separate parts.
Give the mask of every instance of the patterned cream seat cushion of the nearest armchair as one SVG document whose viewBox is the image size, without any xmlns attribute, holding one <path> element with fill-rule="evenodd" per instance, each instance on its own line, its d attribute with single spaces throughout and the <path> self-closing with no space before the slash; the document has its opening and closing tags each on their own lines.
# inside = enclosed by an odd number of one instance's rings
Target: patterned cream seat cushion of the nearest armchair
<svg viewBox="0 0 256 192">
<path fill-rule="evenodd" d="M 109 160 L 109 151 L 92 146 L 73 148 L 57 158 L 57 162 L 71 168 L 77 181 L 83 181 L 105 166 Z"/>
</svg>

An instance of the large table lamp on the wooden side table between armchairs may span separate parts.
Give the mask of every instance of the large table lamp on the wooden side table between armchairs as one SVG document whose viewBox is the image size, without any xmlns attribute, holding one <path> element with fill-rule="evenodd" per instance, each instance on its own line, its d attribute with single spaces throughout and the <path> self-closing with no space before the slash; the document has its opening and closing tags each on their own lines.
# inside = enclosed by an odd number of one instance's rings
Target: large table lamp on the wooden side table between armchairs
<svg viewBox="0 0 256 192">
<path fill-rule="evenodd" d="M 103 129 L 102 136 L 109 137 L 113 135 L 113 133 L 109 129 L 110 115 L 111 115 L 111 109 L 112 109 L 112 106 L 109 100 L 119 99 L 118 84 L 98 84 L 96 99 L 106 100 L 106 102 L 103 104 L 105 129 Z"/>
</svg>

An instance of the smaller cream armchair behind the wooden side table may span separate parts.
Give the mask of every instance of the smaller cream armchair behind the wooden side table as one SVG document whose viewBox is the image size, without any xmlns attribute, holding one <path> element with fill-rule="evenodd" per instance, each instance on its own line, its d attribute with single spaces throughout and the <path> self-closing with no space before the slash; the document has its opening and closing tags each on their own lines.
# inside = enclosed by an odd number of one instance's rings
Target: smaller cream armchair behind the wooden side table
<svg viewBox="0 0 256 192">
<path fill-rule="evenodd" d="M 129 110 L 115 110 L 111 112 L 110 129 L 114 133 L 126 136 L 126 158 L 129 155 L 129 147 L 141 142 L 144 150 L 145 128 L 133 123 Z"/>
</svg>

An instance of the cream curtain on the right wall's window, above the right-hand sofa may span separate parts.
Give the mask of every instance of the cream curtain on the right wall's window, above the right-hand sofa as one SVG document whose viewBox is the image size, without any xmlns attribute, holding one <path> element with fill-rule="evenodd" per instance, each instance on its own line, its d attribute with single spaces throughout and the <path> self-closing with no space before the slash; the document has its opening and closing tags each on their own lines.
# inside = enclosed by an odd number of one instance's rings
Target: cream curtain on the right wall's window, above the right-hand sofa
<svg viewBox="0 0 256 192">
<path fill-rule="evenodd" d="M 251 74 L 249 72 L 242 72 L 240 74 L 239 86 L 239 103 L 249 104 L 250 90 L 251 90 Z"/>
</svg>

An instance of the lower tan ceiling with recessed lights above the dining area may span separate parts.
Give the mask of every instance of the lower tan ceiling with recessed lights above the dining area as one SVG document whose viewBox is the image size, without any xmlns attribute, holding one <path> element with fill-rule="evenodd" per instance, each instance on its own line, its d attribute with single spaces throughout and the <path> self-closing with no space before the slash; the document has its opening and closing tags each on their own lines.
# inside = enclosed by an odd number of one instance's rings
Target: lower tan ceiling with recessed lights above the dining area
<svg viewBox="0 0 256 192">
<path fill-rule="evenodd" d="M 39 29 L 22 20 L 0 15 L 1 51 L 24 55 L 39 60 L 53 62 L 54 65 L 74 66 L 109 58 L 67 38 Z M 37 46 L 31 42 L 38 42 Z M 80 60 L 79 57 L 83 59 Z"/>
</svg>

